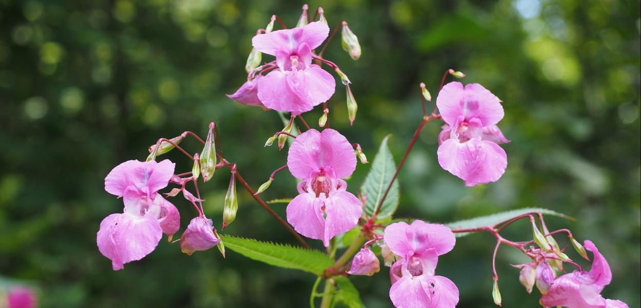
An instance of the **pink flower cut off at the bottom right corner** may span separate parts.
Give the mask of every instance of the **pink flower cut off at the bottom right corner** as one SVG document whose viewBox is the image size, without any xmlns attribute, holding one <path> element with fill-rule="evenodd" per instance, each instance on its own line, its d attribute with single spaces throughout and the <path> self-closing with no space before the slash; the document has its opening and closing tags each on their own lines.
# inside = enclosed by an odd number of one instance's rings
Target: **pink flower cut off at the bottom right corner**
<svg viewBox="0 0 641 308">
<path fill-rule="evenodd" d="M 612 281 L 610 265 L 592 241 L 585 241 L 583 246 L 594 253 L 592 269 L 556 277 L 547 294 L 541 297 L 541 302 L 545 307 L 628 308 L 620 300 L 606 300 L 601 296 L 603 288 Z"/>
</svg>

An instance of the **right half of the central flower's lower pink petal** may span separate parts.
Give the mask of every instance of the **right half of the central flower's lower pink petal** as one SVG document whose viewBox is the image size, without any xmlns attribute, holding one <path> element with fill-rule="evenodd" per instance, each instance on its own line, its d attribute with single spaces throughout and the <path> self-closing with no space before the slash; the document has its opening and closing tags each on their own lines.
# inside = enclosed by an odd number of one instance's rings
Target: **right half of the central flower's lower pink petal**
<svg viewBox="0 0 641 308">
<path fill-rule="evenodd" d="M 325 201 L 325 232 L 323 244 L 329 246 L 329 240 L 335 235 L 345 233 L 356 226 L 363 212 L 358 198 L 347 191 L 337 191 Z"/>
</svg>

